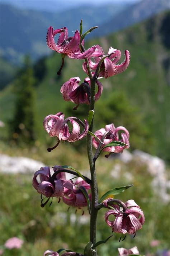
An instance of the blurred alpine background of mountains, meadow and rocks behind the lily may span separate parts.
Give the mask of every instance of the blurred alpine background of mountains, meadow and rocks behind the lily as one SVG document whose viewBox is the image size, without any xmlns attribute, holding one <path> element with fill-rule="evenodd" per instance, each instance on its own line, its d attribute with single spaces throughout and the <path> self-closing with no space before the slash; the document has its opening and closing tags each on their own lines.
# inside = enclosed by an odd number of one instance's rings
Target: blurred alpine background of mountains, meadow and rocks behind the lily
<svg viewBox="0 0 170 256">
<path fill-rule="evenodd" d="M 125 126 L 131 148 L 121 156 L 97 163 L 99 196 L 116 186 L 134 184 L 117 196 L 134 199 L 146 221 L 135 238 L 118 243 L 114 234 L 98 252 L 118 255 L 117 248 L 137 246 L 141 254 L 170 255 L 170 1 L 169 0 L 1 0 L 0 1 L 0 250 L 3 255 L 42 255 L 47 249 L 67 248 L 82 253 L 89 242 L 89 215 L 54 199 L 40 207 L 32 176 L 41 166 L 71 165 L 89 175 L 86 140 L 55 145 L 43 129 L 43 118 L 59 111 L 85 119 L 88 106 L 64 102 L 61 85 L 70 77 L 82 81 L 81 60 L 48 49 L 49 26 L 67 27 L 69 36 L 99 26 L 86 36 L 85 48 L 100 44 L 129 50 L 131 63 L 118 76 L 102 78 L 104 91 L 96 102 L 94 131 L 109 123 Z M 97 240 L 112 234 L 98 217 Z M 21 249 L 4 249 L 10 237 L 24 240 Z"/>
</svg>

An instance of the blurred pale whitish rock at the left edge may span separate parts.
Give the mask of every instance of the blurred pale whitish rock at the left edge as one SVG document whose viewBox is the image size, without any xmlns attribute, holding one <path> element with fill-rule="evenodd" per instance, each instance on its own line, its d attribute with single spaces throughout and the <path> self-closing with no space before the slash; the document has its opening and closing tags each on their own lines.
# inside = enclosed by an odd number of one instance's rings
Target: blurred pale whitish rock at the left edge
<svg viewBox="0 0 170 256">
<path fill-rule="evenodd" d="M 34 173 L 45 166 L 44 163 L 28 157 L 10 157 L 5 154 L 0 154 L 0 163 L 0 171 L 6 173 Z"/>
</svg>

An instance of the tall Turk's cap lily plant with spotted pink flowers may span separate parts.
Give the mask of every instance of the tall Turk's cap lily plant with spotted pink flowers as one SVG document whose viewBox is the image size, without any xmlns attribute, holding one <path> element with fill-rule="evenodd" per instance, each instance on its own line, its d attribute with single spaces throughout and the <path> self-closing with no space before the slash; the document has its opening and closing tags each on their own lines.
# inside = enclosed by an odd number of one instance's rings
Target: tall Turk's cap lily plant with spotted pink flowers
<svg viewBox="0 0 170 256">
<path fill-rule="evenodd" d="M 46 250 L 44 256 L 66 256 L 66 255 L 81 255 L 81 256 L 97 256 L 96 247 L 103 244 L 112 237 L 110 235 L 104 241 L 96 241 L 96 225 L 97 215 L 101 208 L 105 208 L 106 212 L 103 216 L 103 221 L 112 228 L 113 233 L 133 234 L 142 228 L 145 222 L 145 217 L 140 206 L 133 199 L 128 199 L 127 202 L 122 202 L 120 199 L 110 198 L 119 194 L 132 185 L 113 188 L 98 198 L 98 183 L 96 176 L 95 163 L 102 151 L 110 154 L 122 153 L 130 147 L 129 132 L 121 126 L 115 127 L 113 123 L 105 124 L 105 128 L 100 128 L 93 131 L 95 120 L 95 102 L 99 100 L 103 91 L 103 85 L 98 80 L 99 78 L 109 78 L 122 73 L 129 66 L 130 54 L 125 50 L 125 59 L 118 64 L 121 58 L 121 51 L 110 46 L 108 54 L 105 55 L 100 45 L 91 46 L 88 50 L 85 49 L 85 36 L 97 27 L 92 27 L 85 33 L 82 33 L 82 21 L 80 23 L 80 31 L 76 30 L 74 36 L 68 36 L 66 27 L 58 28 L 49 27 L 47 30 L 47 46 L 61 54 L 62 66 L 63 59 L 67 56 L 71 59 L 84 59 L 82 68 L 88 75 L 84 82 L 80 83 L 80 77 L 75 74 L 63 85 L 61 85 L 61 94 L 63 100 L 71 101 L 77 104 L 73 109 L 81 104 L 89 105 L 89 112 L 85 113 L 84 121 L 75 116 L 65 118 L 65 115 L 56 109 L 56 114 L 49 114 L 44 118 L 43 126 L 49 136 L 56 138 L 57 144 L 53 148 L 47 150 L 51 152 L 53 149 L 60 147 L 59 143 L 64 140 L 67 142 L 75 142 L 86 137 L 87 154 L 89 162 L 89 177 L 81 174 L 66 163 L 65 166 L 56 165 L 53 171 L 50 171 L 49 166 L 41 167 L 35 172 L 33 177 L 33 187 L 41 194 L 41 206 L 44 207 L 50 198 L 57 197 L 58 202 L 62 198 L 63 203 L 69 207 L 83 208 L 88 207 L 90 214 L 90 236 L 89 243 L 85 246 L 84 252 L 78 253 L 64 248 L 52 251 Z M 57 42 L 55 35 L 59 34 Z M 115 120 L 110 120 L 114 122 Z M 121 131 L 121 135 L 120 135 Z M 57 149 L 56 149 L 57 150 Z M 68 180 L 66 174 L 72 174 L 77 179 Z M 109 197 L 109 198 L 108 198 Z M 46 200 L 44 202 L 44 200 Z M 51 205 L 51 203 L 50 203 Z M 82 210 L 83 211 L 83 210 Z M 84 211 L 83 211 L 84 213 Z M 82 214 L 83 214 L 82 213 Z M 109 220 L 112 216 L 112 220 Z M 114 217 L 114 220 L 113 220 Z M 125 239 L 125 237 L 124 237 Z M 121 240 L 121 238 L 120 238 Z M 122 239 L 123 240 L 123 239 Z M 136 246 L 127 250 L 118 248 L 119 255 L 139 254 Z"/>
</svg>

